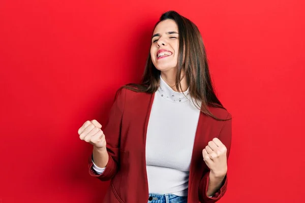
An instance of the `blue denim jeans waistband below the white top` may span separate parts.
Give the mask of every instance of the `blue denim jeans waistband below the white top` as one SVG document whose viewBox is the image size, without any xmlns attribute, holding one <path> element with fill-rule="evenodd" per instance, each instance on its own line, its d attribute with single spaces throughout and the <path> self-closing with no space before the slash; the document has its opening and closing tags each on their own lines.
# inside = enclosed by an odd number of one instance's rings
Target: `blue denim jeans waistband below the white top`
<svg viewBox="0 0 305 203">
<path fill-rule="evenodd" d="M 174 194 L 149 193 L 148 203 L 187 203 L 187 196 L 177 196 Z"/>
</svg>

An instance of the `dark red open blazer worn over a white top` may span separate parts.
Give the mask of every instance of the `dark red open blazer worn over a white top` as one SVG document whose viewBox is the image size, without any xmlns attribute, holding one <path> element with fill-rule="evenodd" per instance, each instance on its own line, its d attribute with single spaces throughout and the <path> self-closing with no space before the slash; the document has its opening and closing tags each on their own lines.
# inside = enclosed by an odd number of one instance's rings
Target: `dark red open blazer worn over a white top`
<svg viewBox="0 0 305 203">
<path fill-rule="evenodd" d="M 93 170 L 89 158 L 89 174 L 102 181 L 111 180 L 104 202 L 147 203 L 148 184 L 145 161 L 145 143 L 148 119 L 155 93 L 138 93 L 121 90 L 110 110 L 108 122 L 103 126 L 109 161 L 104 173 Z M 222 108 L 210 108 L 218 118 L 231 115 Z M 202 150 L 213 138 L 219 138 L 227 147 L 231 146 L 231 119 L 218 121 L 200 113 L 189 174 L 188 202 L 216 202 L 227 189 L 227 177 L 223 186 L 212 197 L 207 197 L 209 168 L 202 157 Z"/>
</svg>

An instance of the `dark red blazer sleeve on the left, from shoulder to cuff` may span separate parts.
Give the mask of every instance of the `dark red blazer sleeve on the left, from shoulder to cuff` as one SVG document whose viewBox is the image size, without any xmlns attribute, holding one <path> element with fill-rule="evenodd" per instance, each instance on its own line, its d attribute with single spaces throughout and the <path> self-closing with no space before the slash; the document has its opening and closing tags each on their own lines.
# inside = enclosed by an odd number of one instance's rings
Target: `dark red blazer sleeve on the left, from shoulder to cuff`
<svg viewBox="0 0 305 203">
<path fill-rule="evenodd" d="M 105 134 L 106 148 L 109 156 L 108 163 L 105 171 L 102 174 L 98 174 L 93 168 L 92 156 L 89 157 L 89 174 L 97 177 L 101 181 L 108 181 L 112 179 L 118 170 L 119 164 L 119 139 L 121 121 L 123 118 L 123 112 L 125 108 L 126 89 L 121 89 L 117 92 L 114 103 L 110 109 L 110 114 L 106 125 L 103 126 L 103 132 Z"/>
</svg>

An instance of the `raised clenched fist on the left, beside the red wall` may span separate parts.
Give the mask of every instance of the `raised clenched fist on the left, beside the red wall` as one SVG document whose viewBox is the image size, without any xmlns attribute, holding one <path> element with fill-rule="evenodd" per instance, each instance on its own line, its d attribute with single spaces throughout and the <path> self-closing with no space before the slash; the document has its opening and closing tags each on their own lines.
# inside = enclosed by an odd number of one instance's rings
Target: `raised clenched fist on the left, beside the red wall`
<svg viewBox="0 0 305 203">
<path fill-rule="evenodd" d="M 106 140 L 102 125 L 97 120 L 86 121 L 79 129 L 78 134 L 81 140 L 94 145 L 96 148 L 106 148 Z"/>
</svg>

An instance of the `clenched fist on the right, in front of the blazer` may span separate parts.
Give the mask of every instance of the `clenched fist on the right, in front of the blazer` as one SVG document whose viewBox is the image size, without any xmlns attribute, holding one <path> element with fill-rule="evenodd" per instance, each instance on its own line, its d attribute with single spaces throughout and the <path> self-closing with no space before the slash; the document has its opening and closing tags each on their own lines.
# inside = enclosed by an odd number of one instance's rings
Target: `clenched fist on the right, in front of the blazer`
<svg viewBox="0 0 305 203">
<path fill-rule="evenodd" d="M 214 138 L 208 142 L 202 150 L 203 160 L 210 169 L 210 174 L 215 177 L 225 177 L 227 174 L 227 148 L 218 139 Z"/>
</svg>

